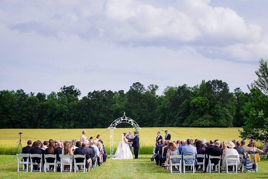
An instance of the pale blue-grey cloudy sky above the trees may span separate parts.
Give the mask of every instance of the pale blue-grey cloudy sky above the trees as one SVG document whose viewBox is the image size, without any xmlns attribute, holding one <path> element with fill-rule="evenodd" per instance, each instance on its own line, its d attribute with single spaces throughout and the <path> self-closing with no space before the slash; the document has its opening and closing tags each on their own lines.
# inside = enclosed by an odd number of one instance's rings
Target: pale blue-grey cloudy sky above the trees
<svg viewBox="0 0 268 179">
<path fill-rule="evenodd" d="M 0 90 L 124 90 L 222 80 L 268 59 L 268 1 L 0 1 Z"/>
</svg>

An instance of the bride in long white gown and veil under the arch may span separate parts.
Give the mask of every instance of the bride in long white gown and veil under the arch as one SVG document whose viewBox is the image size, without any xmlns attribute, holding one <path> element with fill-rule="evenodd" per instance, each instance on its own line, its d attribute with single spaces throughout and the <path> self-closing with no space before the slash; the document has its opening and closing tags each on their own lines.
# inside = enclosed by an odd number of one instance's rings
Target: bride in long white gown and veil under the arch
<svg viewBox="0 0 268 179">
<path fill-rule="evenodd" d="M 122 134 L 122 141 L 119 142 L 119 145 L 116 149 L 116 153 L 111 159 L 133 159 L 132 152 L 129 148 L 129 143 L 126 139 L 127 133 Z"/>
</svg>

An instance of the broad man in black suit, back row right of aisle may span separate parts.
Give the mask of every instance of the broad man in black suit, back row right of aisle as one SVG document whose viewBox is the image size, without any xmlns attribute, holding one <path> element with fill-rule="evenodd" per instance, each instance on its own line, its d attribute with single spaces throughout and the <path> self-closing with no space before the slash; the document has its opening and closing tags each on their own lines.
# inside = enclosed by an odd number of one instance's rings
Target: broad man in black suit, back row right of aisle
<svg viewBox="0 0 268 179">
<path fill-rule="evenodd" d="M 219 148 L 221 142 L 220 141 L 216 141 L 215 145 L 213 145 L 214 141 L 211 140 L 210 141 L 210 145 L 209 147 L 207 147 L 205 149 L 205 152 L 206 154 L 208 155 L 208 158 L 205 159 L 205 172 L 207 171 L 207 166 L 208 166 L 208 159 L 209 159 L 209 156 L 222 156 L 222 149 Z M 219 163 L 219 160 L 218 158 L 212 158 L 211 159 L 211 163 L 214 163 L 215 165 L 217 165 Z"/>
</svg>

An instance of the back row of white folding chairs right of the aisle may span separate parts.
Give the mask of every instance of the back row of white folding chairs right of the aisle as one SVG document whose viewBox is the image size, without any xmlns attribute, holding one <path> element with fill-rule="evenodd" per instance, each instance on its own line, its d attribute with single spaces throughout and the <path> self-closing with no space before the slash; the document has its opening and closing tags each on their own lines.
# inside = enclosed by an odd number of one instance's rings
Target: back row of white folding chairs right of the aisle
<svg viewBox="0 0 268 179">
<path fill-rule="evenodd" d="M 210 155 L 208 158 L 208 167 L 207 167 L 206 172 L 209 172 L 209 173 L 220 172 L 221 157 L 222 156 L 211 156 Z M 180 163 L 172 163 L 172 160 L 169 160 L 170 167 L 168 169 L 169 169 L 170 173 L 182 173 L 182 171 L 183 171 L 183 173 L 189 173 L 189 172 L 194 173 L 194 172 L 204 172 L 205 171 L 205 155 L 201 155 L 201 154 L 197 155 L 197 158 L 203 158 L 202 162 L 197 162 L 197 165 L 202 166 L 202 169 L 200 169 L 200 170 L 195 167 L 195 163 L 194 163 L 195 156 L 194 155 L 184 155 L 183 161 L 182 161 L 181 155 L 172 155 L 172 156 L 170 156 L 170 159 L 172 159 L 172 158 L 179 158 Z M 189 159 L 189 158 L 193 159 L 193 163 L 190 163 L 190 164 L 185 163 L 185 159 Z M 214 158 L 219 159 L 218 164 L 211 163 L 211 159 L 214 159 Z M 236 158 L 236 160 L 233 163 L 229 163 L 228 161 L 226 161 L 226 173 L 237 173 L 238 172 L 237 163 L 238 163 L 239 159 L 237 159 L 236 155 L 227 155 L 226 159 L 228 159 L 228 158 Z M 183 169 L 182 169 L 182 164 L 183 164 Z M 173 171 L 172 166 L 175 166 L 177 168 L 177 170 Z M 186 170 L 186 168 L 185 168 L 186 166 L 191 166 L 191 170 Z M 228 166 L 233 166 L 233 171 L 229 171 Z M 213 167 L 215 167 L 215 170 L 213 170 Z"/>
</svg>

